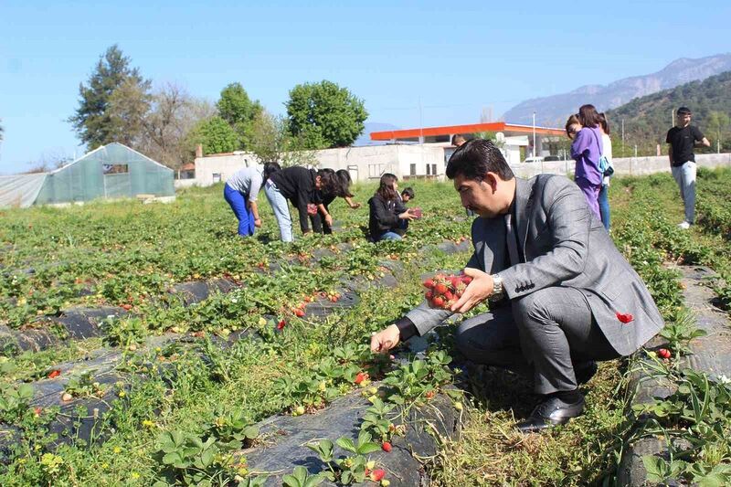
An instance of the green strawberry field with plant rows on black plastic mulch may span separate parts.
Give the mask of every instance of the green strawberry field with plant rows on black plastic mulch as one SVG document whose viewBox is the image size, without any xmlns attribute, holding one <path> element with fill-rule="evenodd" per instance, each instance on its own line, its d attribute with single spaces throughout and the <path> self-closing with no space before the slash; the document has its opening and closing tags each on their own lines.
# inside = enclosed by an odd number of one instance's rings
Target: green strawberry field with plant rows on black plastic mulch
<svg viewBox="0 0 731 487">
<path fill-rule="evenodd" d="M 698 225 L 683 232 L 670 175 L 612 183 L 612 236 L 670 326 L 685 318 L 668 262 L 715 269 L 716 304 L 731 305 L 729 184 L 729 171 L 701 172 Z M 612 482 L 632 420 L 630 362 L 600 365 L 583 417 L 523 437 L 512 427 L 530 412 L 530 384 L 463 370 L 449 326 L 425 354 L 370 354 L 370 333 L 423 299 L 423 276 L 470 257 L 471 222 L 450 183 L 413 187 L 424 216 L 377 245 L 365 240 L 367 208 L 340 201 L 333 235 L 282 244 L 263 205 L 263 228 L 238 238 L 220 186 L 169 205 L 0 213 L 0 483 L 409 485 L 390 459 L 416 411 L 438 407 L 461 426 L 432 434 L 436 450 L 418 456 L 434 484 Z M 356 186 L 355 199 L 374 189 Z M 304 442 L 319 468 L 259 467 L 277 435 L 263 420 L 305 425 L 361 396 L 352 439 Z"/>
</svg>

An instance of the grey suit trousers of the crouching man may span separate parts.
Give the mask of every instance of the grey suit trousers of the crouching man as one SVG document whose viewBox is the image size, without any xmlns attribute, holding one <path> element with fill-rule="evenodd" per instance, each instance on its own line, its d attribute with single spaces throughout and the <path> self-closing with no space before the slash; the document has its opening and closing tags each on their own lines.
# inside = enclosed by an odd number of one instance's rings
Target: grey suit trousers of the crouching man
<svg viewBox="0 0 731 487">
<path fill-rule="evenodd" d="M 457 346 L 472 362 L 532 371 L 537 394 L 577 388 L 574 366 L 620 356 L 594 320 L 584 293 L 546 288 L 465 320 Z"/>
</svg>

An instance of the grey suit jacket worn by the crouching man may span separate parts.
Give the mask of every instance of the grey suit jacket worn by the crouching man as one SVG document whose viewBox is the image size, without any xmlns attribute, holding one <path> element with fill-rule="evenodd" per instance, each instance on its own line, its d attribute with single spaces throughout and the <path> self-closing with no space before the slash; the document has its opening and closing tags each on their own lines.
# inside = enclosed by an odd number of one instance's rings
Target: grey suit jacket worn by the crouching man
<svg viewBox="0 0 731 487">
<path fill-rule="evenodd" d="M 630 355 L 663 326 L 662 316 L 637 272 L 614 246 L 584 195 L 564 176 L 516 178 L 515 215 L 524 264 L 510 267 L 503 217 L 476 218 L 474 253 L 466 267 L 499 272 L 510 300 L 563 286 L 584 291 L 599 328 L 620 355 Z M 631 314 L 622 323 L 618 313 Z M 423 302 L 407 313 L 424 334 L 450 316 Z"/>
</svg>

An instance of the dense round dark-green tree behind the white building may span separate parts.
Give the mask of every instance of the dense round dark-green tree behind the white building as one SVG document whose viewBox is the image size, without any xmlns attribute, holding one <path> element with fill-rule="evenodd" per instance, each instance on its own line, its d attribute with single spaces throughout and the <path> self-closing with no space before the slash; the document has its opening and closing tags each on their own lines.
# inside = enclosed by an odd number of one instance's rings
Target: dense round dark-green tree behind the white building
<svg viewBox="0 0 731 487">
<path fill-rule="evenodd" d="M 350 145 L 368 117 L 363 101 L 328 80 L 295 86 L 285 105 L 289 131 L 309 149 Z"/>
</svg>

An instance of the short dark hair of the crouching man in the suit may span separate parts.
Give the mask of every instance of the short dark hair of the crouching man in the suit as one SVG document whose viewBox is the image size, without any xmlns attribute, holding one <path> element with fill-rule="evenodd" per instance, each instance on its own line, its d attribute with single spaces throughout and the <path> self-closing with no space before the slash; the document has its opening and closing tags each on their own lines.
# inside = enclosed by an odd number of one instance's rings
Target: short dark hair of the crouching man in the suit
<svg viewBox="0 0 731 487">
<path fill-rule="evenodd" d="M 450 179 L 463 175 L 467 179 L 482 181 L 487 173 L 495 173 L 503 181 L 515 177 L 500 149 L 494 143 L 482 139 L 463 143 L 451 154 L 447 164 L 447 177 Z"/>
</svg>

